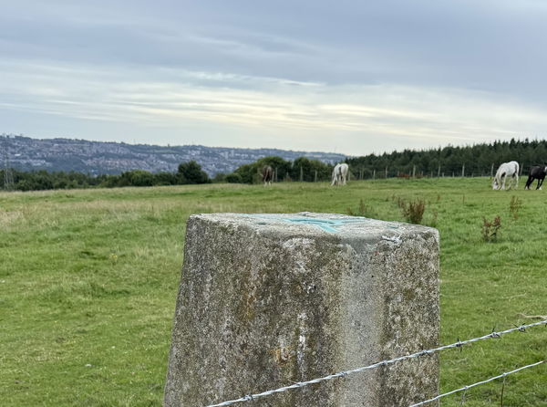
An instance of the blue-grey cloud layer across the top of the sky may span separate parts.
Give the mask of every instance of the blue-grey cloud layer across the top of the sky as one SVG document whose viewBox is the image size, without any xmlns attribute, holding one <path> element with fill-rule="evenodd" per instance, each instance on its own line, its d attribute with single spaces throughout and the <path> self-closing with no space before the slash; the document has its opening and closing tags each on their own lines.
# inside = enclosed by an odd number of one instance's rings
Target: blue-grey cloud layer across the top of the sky
<svg viewBox="0 0 547 407">
<path fill-rule="evenodd" d="M 44 3 L 8 6 L 3 55 L 327 83 L 545 90 L 542 2 Z"/>
</svg>

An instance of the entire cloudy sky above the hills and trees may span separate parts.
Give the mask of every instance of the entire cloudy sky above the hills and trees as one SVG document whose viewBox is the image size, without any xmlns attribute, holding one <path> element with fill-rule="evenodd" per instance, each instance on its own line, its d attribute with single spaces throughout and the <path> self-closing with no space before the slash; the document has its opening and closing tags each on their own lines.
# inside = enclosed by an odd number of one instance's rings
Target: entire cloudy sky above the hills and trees
<svg viewBox="0 0 547 407">
<path fill-rule="evenodd" d="M 543 0 L 0 0 L 0 133 L 348 155 L 547 136 Z"/>
</svg>

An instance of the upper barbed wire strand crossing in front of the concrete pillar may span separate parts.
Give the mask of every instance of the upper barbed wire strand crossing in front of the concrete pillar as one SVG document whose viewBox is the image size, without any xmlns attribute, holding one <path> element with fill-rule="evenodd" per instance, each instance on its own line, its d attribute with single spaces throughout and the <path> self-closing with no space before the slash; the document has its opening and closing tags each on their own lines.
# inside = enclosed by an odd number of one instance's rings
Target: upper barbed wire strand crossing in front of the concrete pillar
<svg viewBox="0 0 547 407">
<path fill-rule="evenodd" d="M 462 346 L 468 345 L 468 344 L 473 343 L 473 342 L 477 342 L 479 340 L 493 339 L 493 338 L 498 339 L 498 338 L 501 338 L 501 335 L 505 335 L 507 333 L 514 332 L 516 330 L 524 332 L 528 328 L 536 327 L 536 326 L 539 326 L 539 325 L 547 325 L 547 319 L 539 321 L 539 322 L 534 322 L 534 323 L 528 324 L 528 325 L 521 325 L 520 327 L 501 330 L 499 332 L 492 331 L 490 334 L 481 336 L 479 338 L 473 338 L 473 339 L 468 339 L 468 340 L 459 340 L 458 342 L 451 343 L 449 345 L 440 346 L 439 348 L 434 348 L 434 349 L 431 349 L 431 350 L 421 350 L 419 352 L 412 353 L 412 354 L 406 355 L 406 356 L 401 356 L 401 357 L 398 357 L 398 358 L 395 358 L 395 359 L 382 360 L 382 361 L 379 361 L 379 362 L 374 363 L 372 365 L 363 366 L 363 367 L 352 369 L 352 370 L 340 371 L 338 373 L 329 374 L 328 376 L 317 378 L 317 379 L 314 379 L 314 380 L 311 380 L 311 381 L 299 381 L 299 382 L 294 383 L 290 386 L 284 386 L 284 387 L 281 387 L 279 389 L 270 390 L 270 391 L 263 391 L 263 392 L 257 393 L 257 394 L 248 394 L 248 395 L 243 396 L 243 397 L 241 397 L 239 399 L 236 399 L 236 400 L 230 400 L 228 402 L 221 402 L 219 404 L 210 404 L 206 407 L 223 407 L 223 406 L 235 404 L 236 402 L 251 402 L 254 399 L 258 399 L 259 397 L 270 396 L 274 393 L 279 393 L 279 392 L 288 391 L 288 390 L 292 390 L 292 389 L 298 389 L 298 388 L 307 386 L 309 384 L 319 383 L 321 381 L 330 381 L 332 379 L 345 377 L 348 374 L 358 373 L 358 372 L 361 372 L 361 371 L 364 371 L 364 370 L 375 369 L 379 366 L 387 366 L 388 364 L 396 363 L 397 361 L 414 359 L 414 358 L 418 358 L 420 356 L 430 355 L 430 354 L 433 354 L 435 352 L 439 352 L 440 350 L 448 350 L 448 349 L 452 349 L 452 348 L 460 348 L 461 349 Z"/>
</svg>

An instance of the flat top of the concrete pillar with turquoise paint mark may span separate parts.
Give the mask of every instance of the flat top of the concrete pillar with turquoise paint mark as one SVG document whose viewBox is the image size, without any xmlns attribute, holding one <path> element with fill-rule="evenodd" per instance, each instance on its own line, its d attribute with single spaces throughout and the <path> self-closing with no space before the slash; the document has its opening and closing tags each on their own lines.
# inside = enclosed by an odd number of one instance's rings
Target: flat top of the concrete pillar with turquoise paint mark
<svg viewBox="0 0 547 407">
<path fill-rule="evenodd" d="M 345 214 L 318 214 L 301 212 L 298 214 L 196 214 L 193 218 L 232 226 L 246 228 L 253 232 L 272 235 L 334 235 L 341 238 L 387 235 L 389 238 L 406 233 L 419 233 L 434 229 L 399 222 L 378 221 L 362 216 Z"/>
</svg>

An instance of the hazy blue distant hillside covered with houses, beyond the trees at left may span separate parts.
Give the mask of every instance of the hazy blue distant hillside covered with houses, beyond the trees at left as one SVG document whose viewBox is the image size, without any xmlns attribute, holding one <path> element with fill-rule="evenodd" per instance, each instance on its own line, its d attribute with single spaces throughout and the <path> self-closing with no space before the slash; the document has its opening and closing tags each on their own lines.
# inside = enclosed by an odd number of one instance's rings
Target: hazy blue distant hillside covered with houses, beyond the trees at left
<svg viewBox="0 0 547 407">
<path fill-rule="evenodd" d="M 0 135 L 0 158 L 4 165 L 22 171 L 75 171 L 93 175 L 119 174 L 130 170 L 176 172 L 181 162 L 196 161 L 210 176 L 232 172 L 240 165 L 276 155 L 294 161 L 307 157 L 335 163 L 346 156 L 329 152 L 286 151 L 276 149 L 233 149 L 227 147 L 156 146 L 71 139 L 32 139 Z M 5 154 L 7 152 L 7 155 Z"/>
</svg>

